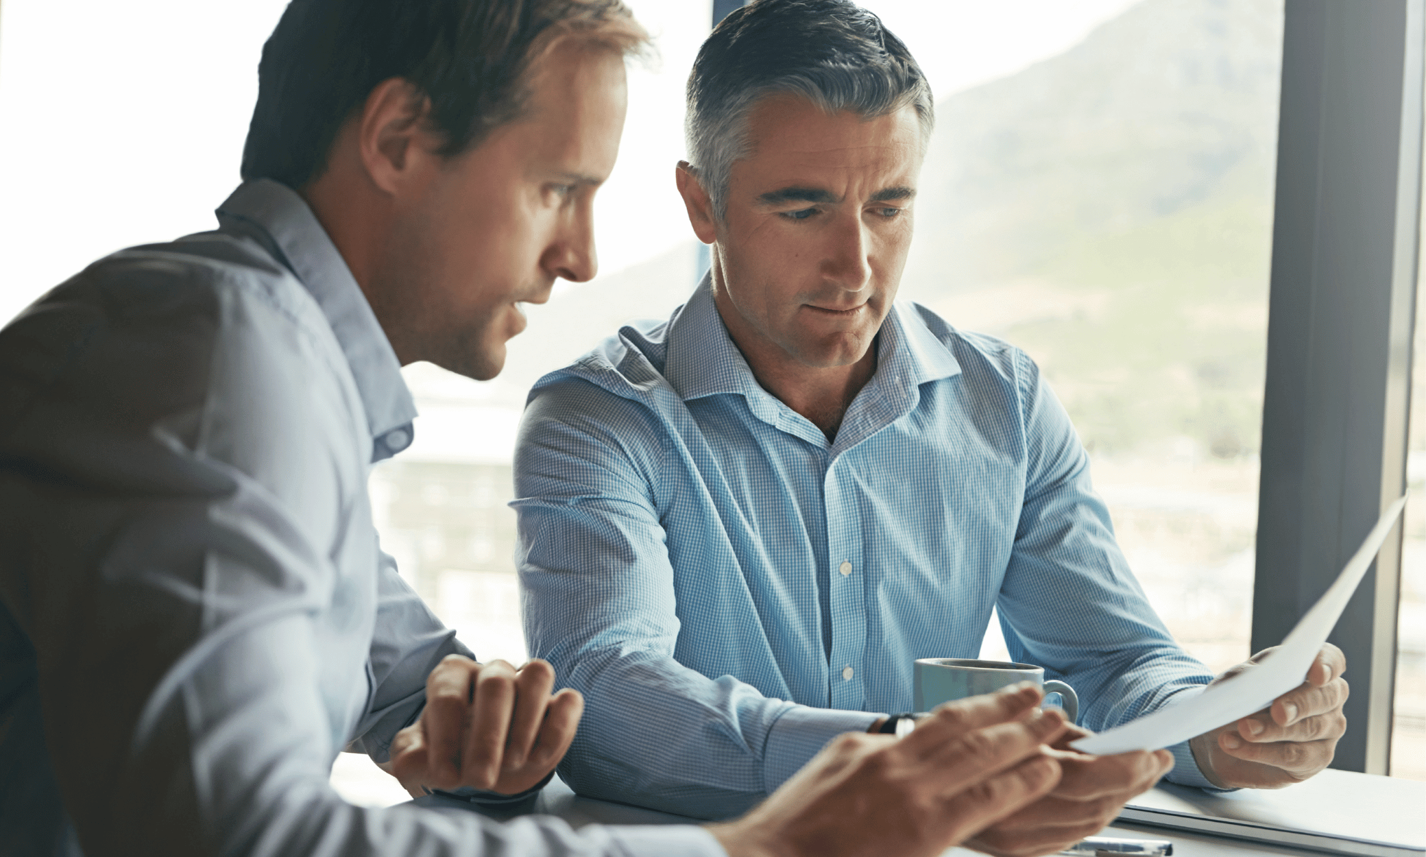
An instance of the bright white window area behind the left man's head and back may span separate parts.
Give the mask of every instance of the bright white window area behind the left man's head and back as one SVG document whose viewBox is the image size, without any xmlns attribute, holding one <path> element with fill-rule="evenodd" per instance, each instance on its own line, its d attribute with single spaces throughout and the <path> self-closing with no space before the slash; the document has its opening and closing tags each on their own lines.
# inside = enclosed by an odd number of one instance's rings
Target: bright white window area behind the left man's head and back
<svg viewBox="0 0 1426 857">
<path fill-rule="evenodd" d="M 284 0 L 6 0 L 0 319 L 135 244 L 214 227 Z"/>
</svg>

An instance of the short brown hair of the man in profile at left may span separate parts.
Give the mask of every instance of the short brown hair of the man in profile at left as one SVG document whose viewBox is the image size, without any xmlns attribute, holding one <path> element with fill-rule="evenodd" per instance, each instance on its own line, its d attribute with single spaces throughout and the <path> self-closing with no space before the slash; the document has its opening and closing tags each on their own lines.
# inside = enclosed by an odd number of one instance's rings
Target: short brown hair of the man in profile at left
<svg viewBox="0 0 1426 857">
<path fill-rule="evenodd" d="M 526 71 L 560 36 L 647 41 L 620 0 L 292 0 L 262 46 L 242 178 L 299 188 L 376 84 L 411 81 L 453 157 L 526 107 Z"/>
</svg>

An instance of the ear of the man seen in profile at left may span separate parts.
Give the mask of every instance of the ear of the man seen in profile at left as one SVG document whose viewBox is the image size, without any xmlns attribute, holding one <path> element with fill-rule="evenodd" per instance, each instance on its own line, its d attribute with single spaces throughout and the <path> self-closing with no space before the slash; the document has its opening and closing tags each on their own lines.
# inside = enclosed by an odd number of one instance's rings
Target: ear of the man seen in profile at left
<svg viewBox="0 0 1426 857">
<path fill-rule="evenodd" d="M 429 100 L 409 80 L 384 80 L 366 96 L 356 125 L 356 145 L 372 184 L 396 195 L 425 161 L 438 157 L 426 130 Z"/>
</svg>

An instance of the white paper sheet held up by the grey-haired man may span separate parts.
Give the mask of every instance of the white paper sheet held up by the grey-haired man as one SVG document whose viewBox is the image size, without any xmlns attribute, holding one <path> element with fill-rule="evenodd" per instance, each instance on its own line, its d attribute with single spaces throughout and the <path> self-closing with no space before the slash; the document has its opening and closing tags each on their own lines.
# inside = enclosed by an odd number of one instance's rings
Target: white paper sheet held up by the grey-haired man
<svg viewBox="0 0 1426 857">
<path fill-rule="evenodd" d="M 1242 673 L 1215 684 L 1204 693 L 1176 706 L 1159 709 L 1152 714 L 1131 720 L 1124 726 L 1079 739 L 1070 744 L 1082 753 L 1107 756 L 1129 750 L 1158 750 L 1185 741 L 1211 729 L 1232 723 L 1272 704 L 1283 693 L 1302 684 L 1308 669 L 1322 650 L 1322 643 L 1332 633 L 1332 626 L 1346 607 L 1348 599 L 1362 582 L 1366 569 L 1376 559 L 1386 533 L 1396 523 L 1396 516 L 1406 506 L 1406 495 L 1382 513 L 1366 540 L 1338 575 L 1336 582 L 1306 616 L 1298 622 L 1292 633 L 1282 640 L 1272 655 Z"/>
</svg>

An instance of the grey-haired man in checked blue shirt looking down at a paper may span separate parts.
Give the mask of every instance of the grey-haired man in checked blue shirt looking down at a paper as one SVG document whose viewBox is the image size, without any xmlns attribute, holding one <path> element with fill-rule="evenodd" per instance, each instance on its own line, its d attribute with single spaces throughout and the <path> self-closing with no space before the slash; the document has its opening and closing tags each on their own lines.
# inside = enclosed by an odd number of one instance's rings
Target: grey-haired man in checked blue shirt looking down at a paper
<svg viewBox="0 0 1426 857">
<path fill-rule="evenodd" d="M 1037 366 L 894 304 L 931 133 L 906 46 L 846 0 L 757 0 L 707 39 L 676 171 L 712 271 L 530 394 L 516 449 L 530 652 L 590 703 L 578 791 L 733 814 L 831 736 L 913 707 L 913 662 L 1011 655 L 1107 729 L 1212 676 L 1115 545 Z M 1346 684 L 1328 647 L 1271 716 L 1172 749 L 1067 754 L 977 847 L 1055 850 L 1172 767 L 1282 786 L 1320 770 Z M 1196 757 L 1196 761 L 1195 761 Z"/>
</svg>

